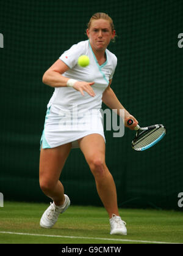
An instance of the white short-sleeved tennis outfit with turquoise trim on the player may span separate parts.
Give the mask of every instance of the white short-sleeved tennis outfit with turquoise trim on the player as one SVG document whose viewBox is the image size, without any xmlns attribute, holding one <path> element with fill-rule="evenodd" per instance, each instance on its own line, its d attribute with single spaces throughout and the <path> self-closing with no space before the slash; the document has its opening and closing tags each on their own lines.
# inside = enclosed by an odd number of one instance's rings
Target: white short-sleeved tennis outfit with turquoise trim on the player
<svg viewBox="0 0 183 256">
<path fill-rule="evenodd" d="M 81 55 L 90 58 L 87 67 L 80 67 L 77 59 Z M 106 49 L 106 62 L 99 66 L 89 40 L 73 45 L 60 59 L 70 67 L 62 75 L 77 81 L 95 82 L 92 85 L 95 97 L 71 87 L 57 87 L 47 105 L 45 126 L 41 136 L 42 148 L 54 148 L 72 143 L 78 148 L 77 140 L 89 134 L 101 134 L 104 137 L 101 105 L 102 93 L 109 85 L 117 66 L 117 57 Z M 105 140 L 105 137 L 104 137 Z M 106 141 L 106 140 L 105 140 Z"/>
</svg>

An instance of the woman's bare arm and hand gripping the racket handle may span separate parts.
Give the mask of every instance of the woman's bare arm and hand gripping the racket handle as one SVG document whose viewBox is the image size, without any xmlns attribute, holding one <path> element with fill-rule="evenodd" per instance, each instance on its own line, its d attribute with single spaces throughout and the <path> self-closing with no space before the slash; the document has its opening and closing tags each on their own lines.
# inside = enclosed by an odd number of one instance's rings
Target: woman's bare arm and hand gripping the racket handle
<svg viewBox="0 0 183 256">
<path fill-rule="evenodd" d="M 117 111 L 117 114 L 119 116 L 122 115 L 121 118 L 124 119 L 124 125 L 126 127 L 128 127 L 129 129 L 134 130 L 134 127 L 137 126 L 138 121 L 120 103 L 116 94 L 113 92 L 113 89 L 110 88 L 111 83 L 112 83 L 112 79 L 109 80 L 109 85 L 102 94 L 102 102 L 104 102 L 104 104 L 106 104 L 107 107 L 111 108 L 115 112 Z M 124 111 L 120 111 L 120 109 L 124 110 Z M 134 123 L 131 126 L 127 126 L 127 120 L 128 119 L 133 119 L 134 120 Z"/>
</svg>

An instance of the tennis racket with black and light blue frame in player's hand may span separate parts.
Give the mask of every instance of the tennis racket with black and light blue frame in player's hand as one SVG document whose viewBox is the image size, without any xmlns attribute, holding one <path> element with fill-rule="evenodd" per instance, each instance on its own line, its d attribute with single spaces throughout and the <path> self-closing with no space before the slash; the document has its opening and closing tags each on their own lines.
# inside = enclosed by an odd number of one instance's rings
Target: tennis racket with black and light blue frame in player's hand
<svg viewBox="0 0 183 256">
<path fill-rule="evenodd" d="M 133 120 L 129 119 L 127 125 L 131 126 Z M 166 128 L 162 124 L 154 124 L 154 126 L 140 127 L 135 126 L 137 130 L 134 140 L 132 140 L 132 148 L 137 151 L 143 151 L 158 143 L 166 134 Z"/>
</svg>

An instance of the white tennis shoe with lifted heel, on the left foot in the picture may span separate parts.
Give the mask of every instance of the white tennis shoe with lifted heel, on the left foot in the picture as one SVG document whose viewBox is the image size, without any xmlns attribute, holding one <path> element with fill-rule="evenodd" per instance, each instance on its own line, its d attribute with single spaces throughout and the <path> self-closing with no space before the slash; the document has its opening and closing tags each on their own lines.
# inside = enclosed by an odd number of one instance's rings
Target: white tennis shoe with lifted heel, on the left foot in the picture
<svg viewBox="0 0 183 256">
<path fill-rule="evenodd" d="M 41 217 L 40 226 L 43 228 L 51 228 L 57 222 L 59 214 L 66 211 L 69 206 L 70 198 L 67 195 L 65 195 L 65 203 L 63 206 L 57 206 L 54 202 L 50 203 L 50 206 Z"/>
</svg>

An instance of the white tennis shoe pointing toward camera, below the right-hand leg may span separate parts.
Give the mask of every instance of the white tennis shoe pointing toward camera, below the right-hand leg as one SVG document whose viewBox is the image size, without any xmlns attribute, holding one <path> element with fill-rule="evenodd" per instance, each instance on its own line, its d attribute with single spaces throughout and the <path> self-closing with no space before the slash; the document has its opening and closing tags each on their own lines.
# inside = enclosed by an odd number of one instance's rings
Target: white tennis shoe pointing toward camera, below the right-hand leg
<svg viewBox="0 0 183 256">
<path fill-rule="evenodd" d="M 126 222 L 121 220 L 120 216 L 112 214 L 112 218 L 109 219 L 110 222 L 110 235 L 127 235 Z"/>
</svg>

